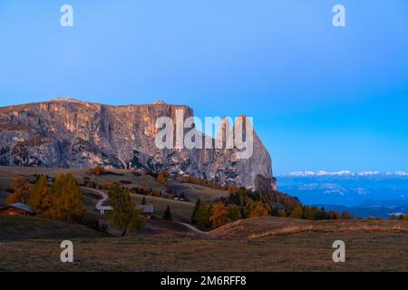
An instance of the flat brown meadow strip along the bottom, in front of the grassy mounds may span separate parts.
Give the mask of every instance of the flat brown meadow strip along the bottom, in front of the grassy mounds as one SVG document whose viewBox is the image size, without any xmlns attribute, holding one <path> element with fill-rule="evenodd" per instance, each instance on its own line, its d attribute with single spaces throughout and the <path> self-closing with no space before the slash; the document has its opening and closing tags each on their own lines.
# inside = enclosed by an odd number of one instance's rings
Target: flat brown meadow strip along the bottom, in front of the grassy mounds
<svg viewBox="0 0 408 290">
<path fill-rule="evenodd" d="M 332 261 L 336 239 L 345 241 L 346 263 Z M 0 271 L 408 271 L 407 235 L 387 232 L 74 239 L 73 264 L 59 261 L 60 242 L 0 242 Z"/>
</svg>

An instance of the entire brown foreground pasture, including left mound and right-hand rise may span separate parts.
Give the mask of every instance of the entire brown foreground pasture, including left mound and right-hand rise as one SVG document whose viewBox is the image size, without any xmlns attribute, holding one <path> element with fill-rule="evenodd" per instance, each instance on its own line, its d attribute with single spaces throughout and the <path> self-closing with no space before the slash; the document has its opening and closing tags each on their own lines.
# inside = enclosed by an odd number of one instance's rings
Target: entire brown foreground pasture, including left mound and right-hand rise
<svg viewBox="0 0 408 290">
<path fill-rule="evenodd" d="M 149 221 L 141 234 L 103 237 L 82 226 L 1 217 L 0 271 L 408 271 L 408 234 L 401 229 L 323 232 L 308 230 L 310 225 L 296 219 L 249 221 L 257 224 L 256 231 L 278 225 L 305 230 L 232 239 L 216 237 L 217 231 L 199 236 L 176 223 Z M 332 228 L 343 227 L 335 223 Z M 395 225 L 406 228 L 408 222 L 403 223 Z M 240 227 L 235 225 L 238 232 Z M 73 264 L 59 260 L 63 239 L 73 240 Z M 345 241 L 344 264 L 332 261 L 337 239 Z"/>
</svg>

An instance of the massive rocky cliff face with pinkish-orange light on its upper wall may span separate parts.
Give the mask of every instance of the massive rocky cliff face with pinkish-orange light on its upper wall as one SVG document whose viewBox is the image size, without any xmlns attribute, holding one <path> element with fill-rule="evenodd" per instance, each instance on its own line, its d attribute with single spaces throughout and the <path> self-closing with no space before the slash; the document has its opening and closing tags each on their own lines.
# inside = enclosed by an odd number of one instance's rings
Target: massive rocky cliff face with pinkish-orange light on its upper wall
<svg viewBox="0 0 408 290">
<path fill-rule="evenodd" d="M 251 158 L 238 149 L 164 149 L 155 144 L 156 121 L 193 116 L 188 106 L 109 106 L 69 99 L 0 108 L 0 165 L 26 167 L 168 169 L 173 176 L 215 179 L 256 188 L 256 177 L 272 178 L 271 159 L 254 132 Z M 230 130 L 229 124 L 220 133 Z M 212 140 L 215 142 L 214 140 Z"/>
</svg>

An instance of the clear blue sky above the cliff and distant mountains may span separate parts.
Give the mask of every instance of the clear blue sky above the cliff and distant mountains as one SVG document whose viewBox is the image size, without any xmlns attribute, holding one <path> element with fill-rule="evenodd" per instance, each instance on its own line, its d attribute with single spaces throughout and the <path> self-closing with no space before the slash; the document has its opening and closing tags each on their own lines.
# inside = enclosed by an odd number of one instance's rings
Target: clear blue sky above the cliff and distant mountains
<svg viewBox="0 0 408 290">
<path fill-rule="evenodd" d="M 408 1 L 0 0 L 0 106 L 61 96 L 245 113 L 277 174 L 408 170 Z"/>
</svg>

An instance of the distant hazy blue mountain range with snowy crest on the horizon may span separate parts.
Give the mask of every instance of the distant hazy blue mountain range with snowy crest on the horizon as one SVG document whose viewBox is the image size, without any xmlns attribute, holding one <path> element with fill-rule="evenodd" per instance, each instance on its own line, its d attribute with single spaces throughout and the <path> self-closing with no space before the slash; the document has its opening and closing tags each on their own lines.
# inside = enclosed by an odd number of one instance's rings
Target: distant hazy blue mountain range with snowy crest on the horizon
<svg viewBox="0 0 408 290">
<path fill-rule="evenodd" d="M 385 218 L 402 210 L 408 214 L 405 171 L 297 171 L 278 176 L 277 185 L 306 205 L 358 208 L 353 212 L 362 217 Z"/>
</svg>

